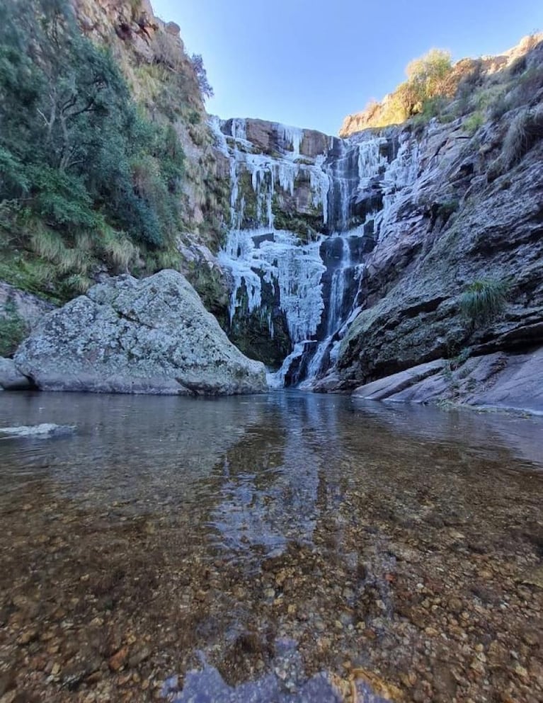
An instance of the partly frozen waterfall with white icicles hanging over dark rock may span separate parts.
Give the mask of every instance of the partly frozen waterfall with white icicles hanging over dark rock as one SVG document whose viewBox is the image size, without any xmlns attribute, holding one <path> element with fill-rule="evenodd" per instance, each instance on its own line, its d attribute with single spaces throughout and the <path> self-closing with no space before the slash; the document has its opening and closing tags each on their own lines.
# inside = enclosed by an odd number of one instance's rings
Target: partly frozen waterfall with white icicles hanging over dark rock
<svg viewBox="0 0 543 703">
<path fill-rule="evenodd" d="M 416 142 L 343 140 L 258 120 L 212 118 L 211 127 L 229 159 L 230 229 L 219 262 L 234 282 L 231 326 L 258 312 L 273 343 L 279 307 L 292 351 L 270 384 L 314 379 L 335 362 L 359 309 L 365 256 L 416 179 Z"/>
</svg>

